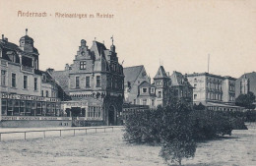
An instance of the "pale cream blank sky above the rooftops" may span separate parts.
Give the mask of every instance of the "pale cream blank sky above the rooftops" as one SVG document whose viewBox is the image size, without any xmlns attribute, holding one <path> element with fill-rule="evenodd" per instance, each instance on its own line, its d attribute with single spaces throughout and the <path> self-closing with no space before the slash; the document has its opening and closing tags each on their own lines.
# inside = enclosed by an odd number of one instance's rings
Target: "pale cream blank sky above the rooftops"
<svg viewBox="0 0 256 166">
<path fill-rule="evenodd" d="M 18 17 L 19 11 L 47 17 Z M 55 13 L 88 18 L 56 18 Z M 96 18 L 96 13 L 113 18 Z M 238 78 L 256 71 L 254 0 L 0 0 L 0 25 L 16 44 L 29 28 L 40 70 L 64 70 L 81 39 L 89 47 L 96 39 L 109 48 L 113 35 L 119 62 L 144 65 L 151 77 L 160 65 L 170 74 L 207 72 L 208 57 L 212 74 Z"/>
</svg>

